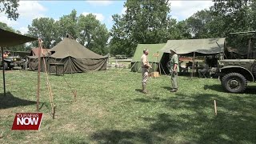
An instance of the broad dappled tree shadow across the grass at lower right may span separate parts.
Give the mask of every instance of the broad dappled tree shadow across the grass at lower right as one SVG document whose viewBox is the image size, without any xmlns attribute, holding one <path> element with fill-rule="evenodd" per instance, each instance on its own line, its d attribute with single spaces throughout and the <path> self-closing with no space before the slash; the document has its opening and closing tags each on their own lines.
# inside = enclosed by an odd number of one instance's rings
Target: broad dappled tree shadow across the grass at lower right
<svg viewBox="0 0 256 144">
<path fill-rule="evenodd" d="M 214 100 L 218 103 L 217 116 Z M 135 101 L 156 102 L 156 99 Z M 101 130 L 92 138 L 100 143 L 256 143 L 253 96 L 175 94 L 175 97 L 159 98 L 158 102 L 170 112 L 142 117 L 149 124 L 146 128 Z"/>
</svg>

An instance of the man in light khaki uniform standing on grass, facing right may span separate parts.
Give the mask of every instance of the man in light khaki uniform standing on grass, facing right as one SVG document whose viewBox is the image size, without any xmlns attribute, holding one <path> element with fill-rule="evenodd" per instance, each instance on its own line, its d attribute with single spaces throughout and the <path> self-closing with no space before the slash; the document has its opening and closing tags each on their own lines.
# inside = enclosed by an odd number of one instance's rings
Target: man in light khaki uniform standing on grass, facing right
<svg viewBox="0 0 256 144">
<path fill-rule="evenodd" d="M 149 54 L 149 50 L 144 49 L 141 62 L 142 62 L 142 93 L 146 94 L 146 83 L 147 78 L 149 76 L 149 69 L 151 68 L 150 63 L 147 59 L 147 55 Z"/>
</svg>

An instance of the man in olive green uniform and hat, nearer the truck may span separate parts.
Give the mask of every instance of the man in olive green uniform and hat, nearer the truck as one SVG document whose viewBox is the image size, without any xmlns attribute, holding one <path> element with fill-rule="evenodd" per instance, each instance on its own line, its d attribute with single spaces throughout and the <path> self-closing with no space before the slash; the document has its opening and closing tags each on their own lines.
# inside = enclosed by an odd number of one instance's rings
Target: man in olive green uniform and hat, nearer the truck
<svg viewBox="0 0 256 144">
<path fill-rule="evenodd" d="M 178 90 L 178 55 L 176 54 L 176 50 L 170 50 L 170 74 L 171 74 L 171 84 L 172 90 L 170 92 L 176 92 Z"/>
</svg>

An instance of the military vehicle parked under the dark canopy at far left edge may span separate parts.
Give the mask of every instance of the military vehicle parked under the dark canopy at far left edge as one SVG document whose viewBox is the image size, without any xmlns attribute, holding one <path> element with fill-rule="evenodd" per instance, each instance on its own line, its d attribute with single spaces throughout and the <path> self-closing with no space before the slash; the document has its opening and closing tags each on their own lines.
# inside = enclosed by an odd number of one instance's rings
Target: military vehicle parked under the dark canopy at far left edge
<svg viewBox="0 0 256 144">
<path fill-rule="evenodd" d="M 0 67 L 2 67 L 4 70 L 10 70 L 13 69 L 14 66 L 21 66 L 22 65 L 22 58 L 19 56 L 8 56 L 3 59 L 2 64 L 2 57 L 0 58 Z"/>
</svg>

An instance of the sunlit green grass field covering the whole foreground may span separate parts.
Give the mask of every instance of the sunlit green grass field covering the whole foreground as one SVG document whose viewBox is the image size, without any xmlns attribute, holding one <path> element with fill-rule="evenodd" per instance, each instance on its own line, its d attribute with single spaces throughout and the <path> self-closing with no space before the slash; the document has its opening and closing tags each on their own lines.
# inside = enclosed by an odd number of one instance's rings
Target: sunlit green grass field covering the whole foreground
<svg viewBox="0 0 256 144">
<path fill-rule="evenodd" d="M 254 83 L 246 94 L 228 94 L 218 79 L 179 77 L 173 94 L 170 77 L 161 76 L 150 78 L 149 94 L 142 94 L 141 74 L 127 69 L 50 75 L 55 119 L 42 73 L 40 130 L 11 130 L 15 113 L 36 112 L 37 76 L 7 71 L 0 143 L 256 143 Z"/>
</svg>

